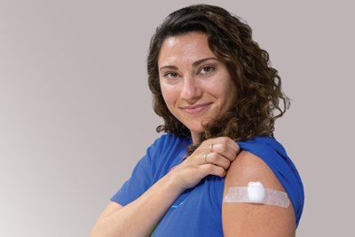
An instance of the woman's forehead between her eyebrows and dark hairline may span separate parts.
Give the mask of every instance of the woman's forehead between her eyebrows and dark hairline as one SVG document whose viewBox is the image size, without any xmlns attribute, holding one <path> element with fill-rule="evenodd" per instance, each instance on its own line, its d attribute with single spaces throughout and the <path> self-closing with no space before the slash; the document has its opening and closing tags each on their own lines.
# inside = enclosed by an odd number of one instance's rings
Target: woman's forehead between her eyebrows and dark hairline
<svg viewBox="0 0 355 237">
<path fill-rule="evenodd" d="M 167 37 L 162 43 L 158 64 L 199 60 L 216 57 L 209 49 L 208 37 L 201 32 L 191 32 L 179 36 Z"/>
</svg>

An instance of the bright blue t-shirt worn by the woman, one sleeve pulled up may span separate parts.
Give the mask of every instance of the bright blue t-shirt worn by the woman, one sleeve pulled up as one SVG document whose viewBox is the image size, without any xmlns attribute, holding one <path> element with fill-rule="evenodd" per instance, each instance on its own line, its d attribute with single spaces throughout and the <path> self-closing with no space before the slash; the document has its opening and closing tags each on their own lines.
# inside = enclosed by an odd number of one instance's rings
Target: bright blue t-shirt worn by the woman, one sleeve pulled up
<svg viewBox="0 0 355 237">
<path fill-rule="evenodd" d="M 164 134 L 149 146 L 132 175 L 111 201 L 122 206 L 141 194 L 183 161 L 191 138 Z M 296 225 L 304 208 L 304 187 L 295 165 L 275 138 L 258 137 L 239 142 L 241 150 L 260 157 L 279 178 L 288 193 L 296 215 Z M 171 205 L 156 226 L 153 236 L 223 236 L 222 202 L 225 178 L 209 175 L 192 189 L 186 190 Z"/>
</svg>

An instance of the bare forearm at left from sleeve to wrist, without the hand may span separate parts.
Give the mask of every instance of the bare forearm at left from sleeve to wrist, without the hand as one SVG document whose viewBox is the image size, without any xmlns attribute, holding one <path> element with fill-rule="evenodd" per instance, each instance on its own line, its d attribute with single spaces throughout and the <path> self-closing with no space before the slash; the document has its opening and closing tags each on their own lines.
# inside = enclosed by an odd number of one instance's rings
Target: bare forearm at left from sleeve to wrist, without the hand
<svg viewBox="0 0 355 237">
<path fill-rule="evenodd" d="M 111 202 L 94 225 L 91 237 L 149 236 L 183 191 L 168 174 L 127 206 Z"/>
</svg>

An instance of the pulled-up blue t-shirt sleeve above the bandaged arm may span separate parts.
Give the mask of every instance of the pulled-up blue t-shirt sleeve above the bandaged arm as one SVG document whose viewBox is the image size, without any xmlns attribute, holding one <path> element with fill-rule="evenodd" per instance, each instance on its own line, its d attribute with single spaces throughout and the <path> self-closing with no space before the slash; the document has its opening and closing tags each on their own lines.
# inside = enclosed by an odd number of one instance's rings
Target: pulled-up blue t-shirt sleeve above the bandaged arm
<svg viewBox="0 0 355 237">
<path fill-rule="evenodd" d="M 296 166 L 289 159 L 284 147 L 274 138 L 254 138 L 238 144 L 241 150 L 261 158 L 279 179 L 295 209 L 298 225 L 304 209 L 304 186 Z"/>
</svg>

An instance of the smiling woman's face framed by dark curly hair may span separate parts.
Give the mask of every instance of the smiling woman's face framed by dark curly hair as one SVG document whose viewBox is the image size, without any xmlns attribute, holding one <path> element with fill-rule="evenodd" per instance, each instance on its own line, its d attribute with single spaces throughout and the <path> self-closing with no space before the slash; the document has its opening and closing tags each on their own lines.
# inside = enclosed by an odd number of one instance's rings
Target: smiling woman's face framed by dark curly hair
<svg viewBox="0 0 355 237">
<path fill-rule="evenodd" d="M 162 43 L 158 67 L 167 107 L 196 142 L 202 124 L 224 115 L 236 97 L 225 64 L 210 51 L 205 34 L 191 32 Z"/>
</svg>

